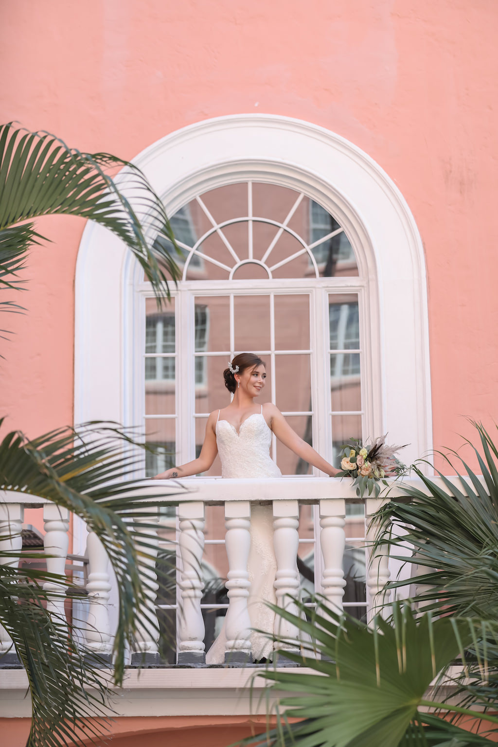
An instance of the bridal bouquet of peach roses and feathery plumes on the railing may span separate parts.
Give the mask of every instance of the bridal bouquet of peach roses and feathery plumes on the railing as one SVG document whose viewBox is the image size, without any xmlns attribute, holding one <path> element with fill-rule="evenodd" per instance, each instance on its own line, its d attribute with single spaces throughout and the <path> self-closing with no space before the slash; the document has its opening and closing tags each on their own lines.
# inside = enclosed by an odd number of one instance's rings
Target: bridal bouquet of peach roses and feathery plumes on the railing
<svg viewBox="0 0 498 747">
<path fill-rule="evenodd" d="M 387 434 L 386 434 L 387 435 Z M 408 444 L 405 444 L 405 446 Z M 406 465 L 399 461 L 396 452 L 405 446 L 387 446 L 385 436 L 374 438 L 371 444 L 362 444 L 358 438 L 352 438 L 349 444 L 343 444 L 340 466 L 342 472 L 337 477 L 352 477 L 356 486 L 356 495 L 363 498 L 381 492 L 380 483 L 387 486 L 385 477 L 405 474 Z"/>
</svg>

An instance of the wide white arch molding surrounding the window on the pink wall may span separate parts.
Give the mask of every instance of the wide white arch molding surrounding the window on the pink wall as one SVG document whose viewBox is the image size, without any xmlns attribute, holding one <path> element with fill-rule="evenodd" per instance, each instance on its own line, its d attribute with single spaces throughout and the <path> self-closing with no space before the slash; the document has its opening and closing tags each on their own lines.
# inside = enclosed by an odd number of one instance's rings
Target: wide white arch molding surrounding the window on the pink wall
<svg viewBox="0 0 498 747">
<path fill-rule="evenodd" d="M 218 117 L 167 135 L 134 158 L 168 214 L 196 194 L 252 179 L 305 192 L 334 215 L 367 279 L 373 364 L 365 396 L 372 435 L 432 446 L 429 326 L 422 242 L 396 185 L 367 154 L 325 128 L 273 115 Z M 138 264 L 111 232 L 87 223 L 75 281 L 75 423 L 131 424 L 131 327 Z"/>
</svg>

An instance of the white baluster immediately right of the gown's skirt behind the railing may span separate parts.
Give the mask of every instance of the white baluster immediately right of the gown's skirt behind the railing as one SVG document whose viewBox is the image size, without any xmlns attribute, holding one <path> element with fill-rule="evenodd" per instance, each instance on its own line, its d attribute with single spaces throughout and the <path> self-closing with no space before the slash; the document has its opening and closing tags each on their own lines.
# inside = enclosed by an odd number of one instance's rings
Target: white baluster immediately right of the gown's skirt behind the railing
<svg viewBox="0 0 498 747">
<path fill-rule="evenodd" d="M 297 500 L 273 501 L 273 547 L 277 564 L 275 590 L 278 607 L 299 616 L 294 598 L 299 596 L 299 571 L 297 551 L 299 547 L 299 505 Z M 291 622 L 276 616 L 273 632 L 283 640 L 276 641 L 273 648 L 280 654 L 291 651 L 299 653 L 299 631 Z"/>
</svg>

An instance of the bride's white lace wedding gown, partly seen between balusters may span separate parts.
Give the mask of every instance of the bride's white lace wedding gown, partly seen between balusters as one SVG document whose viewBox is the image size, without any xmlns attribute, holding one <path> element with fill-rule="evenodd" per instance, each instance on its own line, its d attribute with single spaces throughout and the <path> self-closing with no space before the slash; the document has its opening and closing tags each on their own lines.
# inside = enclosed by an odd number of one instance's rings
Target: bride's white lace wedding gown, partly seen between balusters
<svg viewBox="0 0 498 747">
<path fill-rule="evenodd" d="M 249 415 L 237 433 L 228 421 L 218 420 L 216 424 L 218 453 L 221 459 L 222 477 L 281 477 L 281 471 L 270 458 L 272 432 L 261 412 Z M 276 576 L 276 560 L 273 553 L 273 508 L 254 505 L 251 509 L 251 549 L 247 564 L 249 571 L 248 608 L 251 627 L 273 633 L 275 613 L 265 602 L 276 604 L 273 582 Z M 225 662 L 225 624 L 220 635 L 206 654 L 207 664 Z M 252 658 L 258 661 L 270 659 L 273 642 L 262 633 L 251 633 Z"/>
</svg>

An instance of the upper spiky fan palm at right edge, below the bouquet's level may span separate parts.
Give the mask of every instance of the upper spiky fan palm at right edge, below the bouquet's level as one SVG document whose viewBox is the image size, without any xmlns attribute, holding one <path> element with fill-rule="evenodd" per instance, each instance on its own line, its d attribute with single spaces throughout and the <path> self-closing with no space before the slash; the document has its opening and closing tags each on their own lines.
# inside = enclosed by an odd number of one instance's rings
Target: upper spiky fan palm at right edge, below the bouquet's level
<svg viewBox="0 0 498 747">
<path fill-rule="evenodd" d="M 375 517 L 381 527 L 376 543 L 389 545 L 391 557 L 426 569 L 416 579 L 424 586 L 417 595 L 423 609 L 444 607 L 446 614 L 495 619 L 498 616 L 497 450 L 485 429 L 475 425 L 484 456 L 477 447 L 470 446 L 482 477 L 455 453 L 443 456 L 452 470 L 456 460 L 463 467 L 461 472 L 455 470 L 456 484 L 438 471 L 441 486 L 414 467 L 426 492 L 402 485 L 407 498 L 391 500 Z M 393 524 L 402 531 L 392 532 Z M 406 544 L 413 546 L 413 555 L 397 556 L 396 548 Z M 413 582 L 413 578 L 394 580 L 390 587 Z"/>
</svg>

